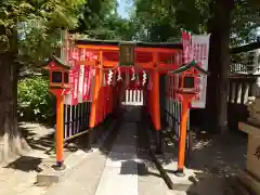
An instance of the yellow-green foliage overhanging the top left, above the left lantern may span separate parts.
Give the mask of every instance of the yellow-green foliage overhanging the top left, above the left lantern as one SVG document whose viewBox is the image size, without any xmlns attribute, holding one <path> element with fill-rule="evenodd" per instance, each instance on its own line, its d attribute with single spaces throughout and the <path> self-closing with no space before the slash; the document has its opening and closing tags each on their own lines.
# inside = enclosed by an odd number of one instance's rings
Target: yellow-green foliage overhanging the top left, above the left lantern
<svg viewBox="0 0 260 195">
<path fill-rule="evenodd" d="M 20 51 L 20 64 L 39 65 L 58 47 L 61 29 L 77 26 L 84 3 L 86 0 L 1 0 L 0 52 Z"/>
</svg>

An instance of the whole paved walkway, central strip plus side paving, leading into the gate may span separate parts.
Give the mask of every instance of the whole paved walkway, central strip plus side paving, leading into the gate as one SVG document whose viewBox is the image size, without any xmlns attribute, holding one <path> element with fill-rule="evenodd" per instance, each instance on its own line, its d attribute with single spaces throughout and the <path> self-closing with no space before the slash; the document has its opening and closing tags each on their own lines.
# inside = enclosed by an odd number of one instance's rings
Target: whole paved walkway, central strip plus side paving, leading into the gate
<svg viewBox="0 0 260 195">
<path fill-rule="evenodd" d="M 140 145 L 140 117 L 138 114 L 129 117 L 130 113 L 126 114 L 108 156 L 102 150 L 91 154 L 70 177 L 52 186 L 46 195 L 183 194 L 168 190 L 147 151 Z"/>
</svg>

